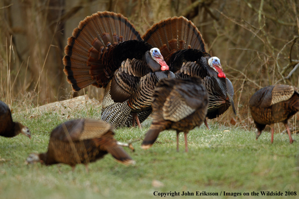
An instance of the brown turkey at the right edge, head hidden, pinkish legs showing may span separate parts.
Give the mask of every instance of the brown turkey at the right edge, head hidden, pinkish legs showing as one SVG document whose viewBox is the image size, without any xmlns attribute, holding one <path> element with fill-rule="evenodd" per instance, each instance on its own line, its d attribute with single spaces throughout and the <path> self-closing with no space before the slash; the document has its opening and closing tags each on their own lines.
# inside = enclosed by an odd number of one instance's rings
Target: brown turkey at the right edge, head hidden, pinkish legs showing
<svg viewBox="0 0 299 199">
<path fill-rule="evenodd" d="M 289 85 L 266 86 L 252 95 L 249 108 L 257 128 L 256 139 L 266 125 L 270 125 L 273 143 L 274 123 L 282 122 L 287 130 L 289 143 L 293 143 L 287 121 L 299 111 L 298 88 Z"/>
</svg>

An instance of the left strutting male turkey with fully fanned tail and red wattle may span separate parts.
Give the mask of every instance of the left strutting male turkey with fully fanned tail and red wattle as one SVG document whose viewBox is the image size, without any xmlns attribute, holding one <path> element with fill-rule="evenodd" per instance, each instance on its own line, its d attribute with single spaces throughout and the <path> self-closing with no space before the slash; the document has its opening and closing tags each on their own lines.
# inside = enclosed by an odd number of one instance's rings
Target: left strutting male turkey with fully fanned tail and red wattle
<svg viewBox="0 0 299 199">
<path fill-rule="evenodd" d="M 130 124 L 128 118 L 138 123 L 137 114 L 141 122 L 146 119 L 156 83 L 174 77 L 159 49 L 143 42 L 121 14 L 105 11 L 87 17 L 67 44 L 63 71 L 68 83 L 74 91 L 90 84 L 104 87 L 101 119 L 115 127 Z"/>
</svg>

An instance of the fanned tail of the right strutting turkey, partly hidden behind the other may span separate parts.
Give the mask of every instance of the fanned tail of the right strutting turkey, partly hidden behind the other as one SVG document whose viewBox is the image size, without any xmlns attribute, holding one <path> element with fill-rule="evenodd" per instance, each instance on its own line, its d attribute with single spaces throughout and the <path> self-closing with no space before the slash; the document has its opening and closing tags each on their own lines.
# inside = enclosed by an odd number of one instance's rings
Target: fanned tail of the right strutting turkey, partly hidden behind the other
<svg viewBox="0 0 299 199">
<path fill-rule="evenodd" d="M 166 62 L 178 50 L 193 48 L 206 52 L 200 32 L 191 21 L 182 16 L 167 18 L 154 24 L 142 39 L 159 48 Z"/>
</svg>

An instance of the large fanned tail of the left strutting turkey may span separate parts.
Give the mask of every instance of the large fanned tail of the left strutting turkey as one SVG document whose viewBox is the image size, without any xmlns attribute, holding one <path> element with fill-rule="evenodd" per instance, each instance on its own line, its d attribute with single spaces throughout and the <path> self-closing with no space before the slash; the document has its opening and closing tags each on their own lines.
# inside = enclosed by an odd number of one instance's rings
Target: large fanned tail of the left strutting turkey
<svg viewBox="0 0 299 199">
<path fill-rule="evenodd" d="M 91 84 L 105 86 L 117 69 L 113 64 L 117 59 L 106 57 L 110 57 L 111 48 L 128 40 L 142 41 L 134 25 L 121 14 L 98 12 L 81 21 L 64 48 L 63 71 L 72 89 L 79 91 Z"/>
</svg>

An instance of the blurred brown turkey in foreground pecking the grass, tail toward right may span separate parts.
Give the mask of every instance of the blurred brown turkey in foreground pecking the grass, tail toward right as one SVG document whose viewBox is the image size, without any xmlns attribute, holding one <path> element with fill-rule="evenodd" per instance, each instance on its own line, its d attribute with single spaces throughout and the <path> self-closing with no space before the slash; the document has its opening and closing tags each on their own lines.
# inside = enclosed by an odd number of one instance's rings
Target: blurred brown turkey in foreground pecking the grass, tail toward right
<svg viewBox="0 0 299 199">
<path fill-rule="evenodd" d="M 113 127 L 100 120 L 67 121 L 51 132 L 46 153 L 32 153 L 26 161 L 41 162 L 45 165 L 65 163 L 70 165 L 72 170 L 76 164 L 85 164 L 88 172 L 88 163 L 111 153 L 122 164 L 135 164 L 113 135 Z"/>
</svg>

